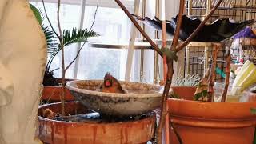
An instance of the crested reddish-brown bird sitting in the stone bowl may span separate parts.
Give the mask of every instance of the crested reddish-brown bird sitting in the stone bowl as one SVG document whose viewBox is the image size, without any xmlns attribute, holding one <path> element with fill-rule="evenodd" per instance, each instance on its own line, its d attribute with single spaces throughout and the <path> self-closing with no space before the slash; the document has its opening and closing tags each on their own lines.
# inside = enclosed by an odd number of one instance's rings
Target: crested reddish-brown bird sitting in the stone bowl
<svg viewBox="0 0 256 144">
<path fill-rule="evenodd" d="M 122 90 L 121 84 L 116 78 L 110 75 L 110 73 L 105 74 L 104 83 L 100 86 L 100 91 L 106 93 L 125 93 L 125 91 Z"/>
</svg>

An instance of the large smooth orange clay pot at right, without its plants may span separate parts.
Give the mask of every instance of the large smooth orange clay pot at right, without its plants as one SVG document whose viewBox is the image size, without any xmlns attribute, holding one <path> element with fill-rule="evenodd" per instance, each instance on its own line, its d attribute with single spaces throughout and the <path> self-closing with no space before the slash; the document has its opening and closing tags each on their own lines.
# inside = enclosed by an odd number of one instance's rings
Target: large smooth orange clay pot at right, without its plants
<svg viewBox="0 0 256 144">
<path fill-rule="evenodd" d="M 173 87 L 182 98 L 192 99 L 195 87 Z M 250 113 L 256 102 L 220 103 L 194 102 L 169 98 L 170 120 L 188 144 L 251 144 L 254 139 L 256 115 Z M 170 131 L 171 144 L 178 144 Z"/>
</svg>

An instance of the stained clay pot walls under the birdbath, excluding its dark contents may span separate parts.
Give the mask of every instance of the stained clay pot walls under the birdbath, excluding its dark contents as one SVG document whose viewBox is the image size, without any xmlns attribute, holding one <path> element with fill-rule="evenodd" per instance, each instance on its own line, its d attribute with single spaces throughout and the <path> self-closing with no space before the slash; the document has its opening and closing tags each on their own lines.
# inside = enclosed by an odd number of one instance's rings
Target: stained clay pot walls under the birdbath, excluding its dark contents
<svg viewBox="0 0 256 144">
<path fill-rule="evenodd" d="M 76 108 L 75 108 L 76 107 Z M 61 104 L 52 103 L 41 106 L 54 112 L 60 112 Z M 66 113 L 73 114 L 74 110 L 86 111 L 75 102 L 66 102 Z M 47 144 L 136 144 L 146 143 L 154 136 L 155 115 L 131 122 L 116 123 L 86 123 L 60 122 L 38 117 L 38 138 Z"/>
</svg>

